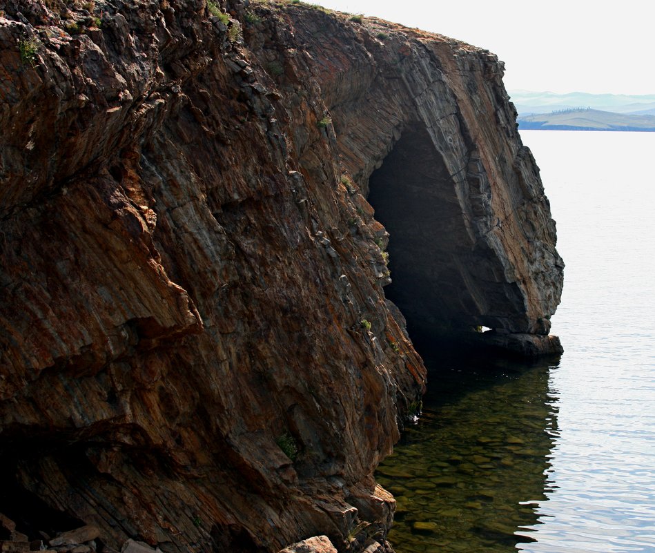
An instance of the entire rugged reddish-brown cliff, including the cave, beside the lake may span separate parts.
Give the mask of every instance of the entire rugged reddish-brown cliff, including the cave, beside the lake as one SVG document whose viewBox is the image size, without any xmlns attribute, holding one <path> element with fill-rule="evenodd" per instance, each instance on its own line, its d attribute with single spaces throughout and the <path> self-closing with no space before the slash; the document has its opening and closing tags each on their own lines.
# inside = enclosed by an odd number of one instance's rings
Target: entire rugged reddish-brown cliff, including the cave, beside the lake
<svg viewBox="0 0 655 553">
<path fill-rule="evenodd" d="M 0 511 L 108 550 L 382 547 L 351 534 L 391 524 L 371 475 L 424 389 L 401 311 L 551 347 L 502 64 L 294 3 L 0 16 Z"/>
</svg>

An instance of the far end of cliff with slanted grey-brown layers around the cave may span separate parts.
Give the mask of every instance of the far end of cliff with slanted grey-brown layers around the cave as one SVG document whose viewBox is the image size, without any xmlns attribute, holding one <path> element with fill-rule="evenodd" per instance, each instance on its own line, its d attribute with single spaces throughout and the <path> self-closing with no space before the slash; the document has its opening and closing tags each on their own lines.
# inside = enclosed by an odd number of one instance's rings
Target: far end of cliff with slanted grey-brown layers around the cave
<svg viewBox="0 0 655 553">
<path fill-rule="evenodd" d="M 410 326 L 436 334 L 468 340 L 465 331 L 485 326 L 545 337 L 564 264 L 502 62 L 449 39 L 416 39 L 411 48 L 391 39 L 371 46 L 373 75 L 347 64 L 338 77 L 315 73 L 326 101 L 338 99 L 329 112 L 340 157 L 389 232 L 387 297 Z M 560 350 L 534 340 L 543 353 Z"/>
</svg>

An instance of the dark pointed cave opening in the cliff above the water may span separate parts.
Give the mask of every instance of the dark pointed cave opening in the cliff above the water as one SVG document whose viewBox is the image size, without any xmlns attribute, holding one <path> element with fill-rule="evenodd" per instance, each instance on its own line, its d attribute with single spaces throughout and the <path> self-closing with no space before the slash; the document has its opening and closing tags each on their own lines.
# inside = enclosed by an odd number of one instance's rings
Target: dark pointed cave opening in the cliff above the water
<svg viewBox="0 0 655 553">
<path fill-rule="evenodd" d="M 455 341 L 480 320 L 468 252 L 474 249 L 444 159 L 427 130 L 400 137 L 369 180 L 369 203 L 389 232 L 391 284 L 412 340 Z"/>
</svg>

